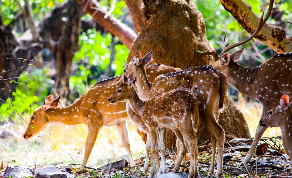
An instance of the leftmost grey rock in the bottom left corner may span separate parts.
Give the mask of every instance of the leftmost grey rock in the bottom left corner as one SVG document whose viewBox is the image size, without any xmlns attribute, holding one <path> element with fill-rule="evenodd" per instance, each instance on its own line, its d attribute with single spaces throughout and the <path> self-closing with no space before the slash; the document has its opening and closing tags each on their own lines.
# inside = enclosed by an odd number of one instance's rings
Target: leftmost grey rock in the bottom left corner
<svg viewBox="0 0 292 178">
<path fill-rule="evenodd" d="M 34 170 L 32 167 L 25 166 L 7 166 L 3 174 L 4 177 L 24 178 L 33 177 Z"/>
</svg>

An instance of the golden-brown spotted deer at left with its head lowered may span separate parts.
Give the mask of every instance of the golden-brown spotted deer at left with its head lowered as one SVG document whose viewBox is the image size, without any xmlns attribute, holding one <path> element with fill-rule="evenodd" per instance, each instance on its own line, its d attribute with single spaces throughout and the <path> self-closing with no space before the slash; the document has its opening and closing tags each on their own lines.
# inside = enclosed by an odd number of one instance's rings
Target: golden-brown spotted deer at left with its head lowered
<svg viewBox="0 0 292 178">
<path fill-rule="evenodd" d="M 172 68 L 162 64 L 153 64 L 146 68 L 150 73 L 149 77 L 152 81 L 160 74 L 179 70 L 178 68 Z M 116 89 L 114 85 L 120 78 L 121 76 L 116 76 L 99 81 L 92 85 L 77 102 L 63 108 L 57 107 L 60 98 L 53 99 L 53 95 L 49 95 L 44 103 L 35 109 L 31 115 L 27 129 L 23 135 L 24 139 L 32 138 L 48 124 L 63 123 L 66 125 L 75 125 L 84 123 L 87 126 L 88 135 L 84 160 L 80 168 L 82 170 L 87 163 L 100 128 L 116 125 L 121 134 L 123 145 L 127 150 L 130 165 L 134 166 L 135 163 L 131 154 L 125 123 L 128 119 L 126 106 L 122 103 L 114 105 L 107 103 L 107 98 Z"/>
</svg>

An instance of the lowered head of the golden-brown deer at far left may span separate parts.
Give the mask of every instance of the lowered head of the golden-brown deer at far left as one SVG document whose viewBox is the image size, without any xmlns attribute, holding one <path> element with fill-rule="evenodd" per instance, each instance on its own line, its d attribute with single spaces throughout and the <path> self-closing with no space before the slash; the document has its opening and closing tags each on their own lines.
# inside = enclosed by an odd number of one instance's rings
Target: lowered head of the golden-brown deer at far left
<svg viewBox="0 0 292 178">
<path fill-rule="evenodd" d="M 58 106 L 60 97 L 53 99 L 53 95 L 48 95 L 43 104 L 36 108 L 30 116 L 30 121 L 27 126 L 25 133 L 23 134 L 24 139 L 31 139 L 35 134 L 43 130 L 48 125 L 49 120 L 47 116 L 47 110 Z"/>
</svg>

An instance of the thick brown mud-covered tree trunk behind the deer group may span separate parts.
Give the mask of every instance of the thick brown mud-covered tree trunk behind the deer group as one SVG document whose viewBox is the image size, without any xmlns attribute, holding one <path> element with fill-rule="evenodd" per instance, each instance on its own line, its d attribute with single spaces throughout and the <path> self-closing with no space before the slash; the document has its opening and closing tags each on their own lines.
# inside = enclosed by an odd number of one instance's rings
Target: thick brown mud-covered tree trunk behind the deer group
<svg viewBox="0 0 292 178">
<path fill-rule="evenodd" d="M 214 48 L 206 39 L 203 17 L 194 1 L 144 1 L 143 11 L 147 22 L 141 27 L 140 34 L 133 43 L 127 62 L 132 60 L 137 50 L 146 54 L 153 49 L 155 63 L 182 69 L 209 63 L 209 55 L 195 52 L 197 45 L 201 51 L 212 51 Z M 226 139 L 250 137 L 244 116 L 227 98 L 219 123 L 225 130 Z M 211 138 L 210 132 L 203 125 L 199 128 L 199 142 Z M 145 141 L 146 136 L 141 135 Z M 168 148 L 175 148 L 175 140 L 175 135 L 169 130 Z"/>
</svg>

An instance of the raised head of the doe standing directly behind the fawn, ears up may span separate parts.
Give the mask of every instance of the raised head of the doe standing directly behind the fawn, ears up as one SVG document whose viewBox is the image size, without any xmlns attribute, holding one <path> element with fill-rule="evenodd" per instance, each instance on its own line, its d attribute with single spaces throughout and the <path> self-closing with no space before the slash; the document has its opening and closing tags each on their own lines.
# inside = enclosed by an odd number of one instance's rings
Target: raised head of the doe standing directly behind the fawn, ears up
<svg viewBox="0 0 292 178">
<path fill-rule="evenodd" d="M 133 61 L 129 62 L 126 67 L 124 67 L 125 76 L 129 76 L 131 73 L 138 74 L 140 71 L 145 71 L 145 66 L 152 60 L 151 56 L 152 51 L 142 58 L 142 53 L 138 50 L 133 56 Z"/>
</svg>

